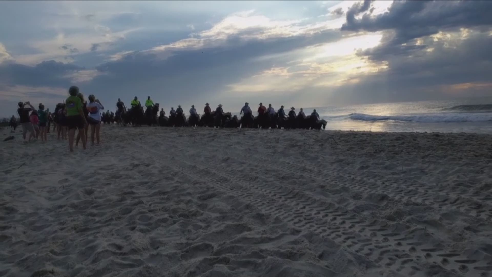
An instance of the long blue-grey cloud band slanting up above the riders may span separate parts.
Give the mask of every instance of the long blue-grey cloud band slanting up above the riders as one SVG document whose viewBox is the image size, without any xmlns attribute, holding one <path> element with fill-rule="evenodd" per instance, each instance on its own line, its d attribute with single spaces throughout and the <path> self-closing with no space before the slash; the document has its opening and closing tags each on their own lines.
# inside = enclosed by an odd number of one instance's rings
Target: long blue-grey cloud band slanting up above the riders
<svg viewBox="0 0 492 277">
<path fill-rule="evenodd" d="M 259 57 L 340 38 L 337 31 L 250 41 L 244 41 L 241 35 L 230 37 L 224 46 L 175 51 L 165 60 L 157 59 L 154 54 L 133 52 L 121 60 L 98 66 L 96 69 L 102 74 L 85 86 L 100 94 L 117 91 L 122 99 L 145 91 L 166 103 L 185 99 L 213 101 L 211 98 L 217 92 L 228 90 L 228 84 L 270 69 L 274 64 L 287 63 L 293 58 L 287 55 L 283 58 L 285 60 L 276 58 L 272 61 L 257 59 Z M 222 101 L 226 103 L 227 99 Z"/>
</svg>

